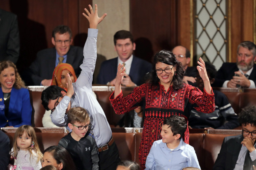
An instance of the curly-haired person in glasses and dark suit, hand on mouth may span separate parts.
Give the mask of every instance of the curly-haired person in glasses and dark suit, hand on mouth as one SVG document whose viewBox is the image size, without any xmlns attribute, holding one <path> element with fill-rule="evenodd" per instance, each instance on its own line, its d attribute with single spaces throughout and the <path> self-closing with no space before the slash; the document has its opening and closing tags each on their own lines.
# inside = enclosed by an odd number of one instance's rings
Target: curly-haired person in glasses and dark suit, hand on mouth
<svg viewBox="0 0 256 170">
<path fill-rule="evenodd" d="M 247 106 L 238 115 L 242 134 L 225 137 L 213 170 L 253 170 L 256 165 L 256 107 Z"/>
</svg>

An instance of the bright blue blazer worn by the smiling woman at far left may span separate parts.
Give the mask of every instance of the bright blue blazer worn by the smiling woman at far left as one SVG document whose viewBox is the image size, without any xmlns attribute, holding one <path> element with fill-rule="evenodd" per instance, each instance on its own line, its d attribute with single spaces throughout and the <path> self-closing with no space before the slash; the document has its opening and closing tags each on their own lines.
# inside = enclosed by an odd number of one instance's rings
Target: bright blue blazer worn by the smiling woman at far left
<svg viewBox="0 0 256 170">
<path fill-rule="evenodd" d="M 1 100 L 2 99 L 2 100 Z M 31 125 L 32 106 L 28 89 L 11 89 L 8 117 L 4 115 L 4 96 L 0 88 L 0 127 Z"/>
</svg>

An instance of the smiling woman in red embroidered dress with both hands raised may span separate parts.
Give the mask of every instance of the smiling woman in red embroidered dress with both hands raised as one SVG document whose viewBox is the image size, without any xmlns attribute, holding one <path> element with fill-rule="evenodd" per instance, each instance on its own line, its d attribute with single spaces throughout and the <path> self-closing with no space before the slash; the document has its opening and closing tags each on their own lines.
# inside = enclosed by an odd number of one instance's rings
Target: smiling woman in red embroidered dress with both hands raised
<svg viewBox="0 0 256 170">
<path fill-rule="evenodd" d="M 142 169 L 145 169 L 146 159 L 153 142 L 162 139 L 160 133 L 164 118 L 175 114 L 188 120 L 193 107 L 204 113 L 214 111 L 214 94 L 204 61 L 200 58 L 197 63 L 199 64 L 197 70 L 204 82 L 203 93 L 197 88 L 183 83 L 185 71 L 181 62 L 170 51 L 162 50 L 154 56 L 150 83 L 134 88 L 127 97 L 123 97 L 121 90 L 125 67 L 119 64 L 115 92 L 109 99 L 117 114 L 127 113 L 138 106 L 143 108 L 145 121 L 139 149 Z M 189 143 L 188 128 L 185 132 L 184 142 Z"/>
</svg>

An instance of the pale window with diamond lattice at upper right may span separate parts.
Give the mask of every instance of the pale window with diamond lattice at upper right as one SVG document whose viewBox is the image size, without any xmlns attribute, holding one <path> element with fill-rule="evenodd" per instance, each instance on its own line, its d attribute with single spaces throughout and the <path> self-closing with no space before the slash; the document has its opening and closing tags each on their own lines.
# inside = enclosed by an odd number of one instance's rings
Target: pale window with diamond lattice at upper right
<svg viewBox="0 0 256 170">
<path fill-rule="evenodd" d="M 218 70 L 227 56 L 227 0 L 195 0 L 196 59 L 210 61 Z"/>
</svg>

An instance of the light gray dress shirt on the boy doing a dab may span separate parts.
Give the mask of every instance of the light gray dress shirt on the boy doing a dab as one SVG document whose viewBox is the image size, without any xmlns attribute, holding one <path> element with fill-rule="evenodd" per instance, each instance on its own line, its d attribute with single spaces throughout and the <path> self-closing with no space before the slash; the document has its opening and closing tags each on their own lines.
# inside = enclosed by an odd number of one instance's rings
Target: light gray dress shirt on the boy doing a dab
<svg viewBox="0 0 256 170">
<path fill-rule="evenodd" d="M 72 83 L 74 95 L 71 98 L 71 107 L 83 107 L 90 116 L 93 125 L 93 133 L 98 147 L 101 147 L 110 140 L 112 132 L 107 122 L 104 111 L 95 98 L 92 91 L 92 79 L 97 59 L 97 29 L 88 29 L 88 37 L 84 47 L 84 60 L 80 66 L 81 74 L 76 82 Z M 64 96 L 60 104 L 51 114 L 52 121 L 57 126 L 67 126 L 68 118 L 65 114 L 70 98 Z"/>
</svg>

